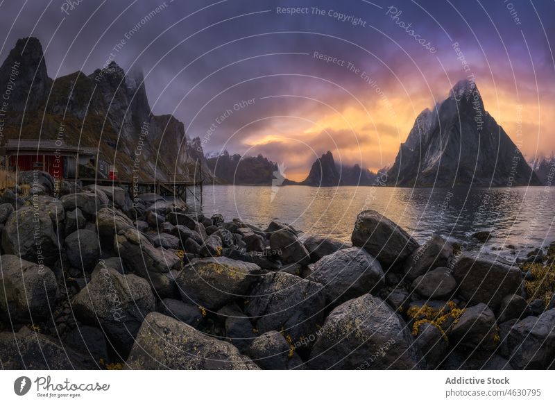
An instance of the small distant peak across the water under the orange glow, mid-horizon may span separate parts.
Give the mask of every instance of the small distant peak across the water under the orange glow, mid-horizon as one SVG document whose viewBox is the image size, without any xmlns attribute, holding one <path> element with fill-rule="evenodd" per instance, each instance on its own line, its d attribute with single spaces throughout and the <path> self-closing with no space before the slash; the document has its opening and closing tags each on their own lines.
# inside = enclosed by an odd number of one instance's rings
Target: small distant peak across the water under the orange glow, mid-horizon
<svg viewBox="0 0 555 404">
<path fill-rule="evenodd" d="M 341 185 L 373 185 L 376 174 L 359 165 L 336 165 L 331 151 L 318 158 L 305 180 L 285 180 L 283 185 L 308 185 L 309 187 L 336 187 Z"/>
</svg>

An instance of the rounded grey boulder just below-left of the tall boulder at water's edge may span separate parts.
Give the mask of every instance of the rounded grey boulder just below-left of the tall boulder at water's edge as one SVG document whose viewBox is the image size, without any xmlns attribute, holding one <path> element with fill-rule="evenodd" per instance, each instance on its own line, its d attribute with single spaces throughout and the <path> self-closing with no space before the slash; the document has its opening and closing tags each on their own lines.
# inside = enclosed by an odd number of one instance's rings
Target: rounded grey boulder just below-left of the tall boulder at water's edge
<svg viewBox="0 0 555 404">
<path fill-rule="evenodd" d="M 312 280 L 323 285 L 328 303 L 338 305 L 366 293 L 377 294 L 384 286 L 384 271 L 366 250 L 351 247 L 316 262 Z"/>
</svg>

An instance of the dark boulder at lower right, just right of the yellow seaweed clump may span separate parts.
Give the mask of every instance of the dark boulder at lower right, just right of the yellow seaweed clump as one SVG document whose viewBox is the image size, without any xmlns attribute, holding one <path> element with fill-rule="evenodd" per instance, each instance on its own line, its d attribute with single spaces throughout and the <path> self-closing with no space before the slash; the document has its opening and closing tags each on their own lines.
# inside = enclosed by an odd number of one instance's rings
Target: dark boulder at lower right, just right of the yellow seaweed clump
<svg viewBox="0 0 555 404">
<path fill-rule="evenodd" d="M 497 346 L 498 337 L 495 315 L 484 303 L 466 308 L 449 333 L 449 338 L 456 344 L 486 350 Z"/>
</svg>

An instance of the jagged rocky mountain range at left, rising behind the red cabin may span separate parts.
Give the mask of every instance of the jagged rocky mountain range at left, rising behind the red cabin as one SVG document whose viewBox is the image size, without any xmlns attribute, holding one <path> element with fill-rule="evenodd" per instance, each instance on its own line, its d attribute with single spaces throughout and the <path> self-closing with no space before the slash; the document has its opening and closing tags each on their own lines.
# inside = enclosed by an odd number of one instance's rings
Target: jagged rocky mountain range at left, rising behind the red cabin
<svg viewBox="0 0 555 404">
<path fill-rule="evenodd" d="M 2 91 L 9 83 L 2 142 L 21 136 L 92 146 L 122 179 L 134 169 L 144 180 L 192 174 L 198 160 L 205 178 L 212 178 L 200 139 L 188 137 L 173 115 L 153 115 L 139 72 L 111 62 L 90 75 L 76 71 L 53 80 L 40 41 L 28 37 L 17 41 L 0 68 Z"/>
</svg>

